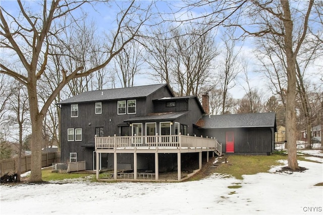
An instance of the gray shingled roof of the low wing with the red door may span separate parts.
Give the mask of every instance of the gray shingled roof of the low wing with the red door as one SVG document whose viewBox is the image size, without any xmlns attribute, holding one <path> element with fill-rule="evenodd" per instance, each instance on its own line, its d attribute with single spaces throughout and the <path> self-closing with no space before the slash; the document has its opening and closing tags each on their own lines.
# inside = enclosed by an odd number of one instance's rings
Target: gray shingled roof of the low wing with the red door
<svg viewBox="0 0 323 215">
<path fill-rule="evenodd" d="M 204 115 L 198 122 L 202 128 L 275 127 L 275 113 L 246 113 L 228 115 Z"/>
</svg>

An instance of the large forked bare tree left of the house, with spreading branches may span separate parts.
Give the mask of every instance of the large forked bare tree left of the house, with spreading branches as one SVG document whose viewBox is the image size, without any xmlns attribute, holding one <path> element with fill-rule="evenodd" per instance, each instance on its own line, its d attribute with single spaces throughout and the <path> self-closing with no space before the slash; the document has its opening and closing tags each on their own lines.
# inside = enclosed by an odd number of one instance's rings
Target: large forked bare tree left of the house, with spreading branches
<svg viewBox="0 0 323 215">
<path fill-rule="evenodd" d="M 58 93 L 63 87 L 75 78 L 89 76 L 95 71 L 105 67 L 111 60 L 119 54 L 124 46 L 132 41 L 137 35 L 143 23 L 149 18 L 147 7 L 141 10 L 136 7 L 136 3 L 131 2 L 126 8 L 122 8 L 117 16 L 117 27 L 113 32 L 114 40 L 109 44 L 101 47 L 100 53 L 104 55 L 104 61 L 95 66 L 87 68 L 85 64 L 78 64 L 72 70 L 63 68 L 59 71 L 62 77 L 61 82 L 51 92 L 50 96 L 43 104 L 38 99 L 37 85 L 39 80 L 43 77 L 48 64 L 49 50 L 52 45 L 50 41 L 53 38 L 64 41 L 60 38 L 62 30 L 68 27 L 76 27 L 77 19 L 73 19 L 69 25 L 59 25 L 64 17 L 76 17 L 77 9 L 81 8 L 86 2 L 72 2 L 72 1 L 51 1 L 38 4 L 38 8 L 28 6 L 25 2 L 23 5 L 18 2 L 20 13 L 11 14 L 10 10 L 1 6 L 1 48 L 6 50 L 6 53 L 12 53 L 13 56 L 19 58 L 22 72 L 13 70 L 10 64 L 1 62 L 0 73 L 6 74 L 15 78 L 22 83 L 28 92 L 28 102 L 30 109 L 30 119 L 32 127 L 31 140 L 31 177 L 30 181 L 42 181 L 41 177 L 41 138 L 42 138 L 42 122 L 46 112 L 55 100 Z M 100 5 L 102 6 L 102 5 Z M 116 44 L 119 37 L 124 38 L 123 44 Z M 58 54 L 63 55 L 67 47 L 61 47 L 62 51 Z M 51 53 L 54 55 L 54 53 Z M 85 69 L 86 68 L 86 69 Z"/>
</svg>

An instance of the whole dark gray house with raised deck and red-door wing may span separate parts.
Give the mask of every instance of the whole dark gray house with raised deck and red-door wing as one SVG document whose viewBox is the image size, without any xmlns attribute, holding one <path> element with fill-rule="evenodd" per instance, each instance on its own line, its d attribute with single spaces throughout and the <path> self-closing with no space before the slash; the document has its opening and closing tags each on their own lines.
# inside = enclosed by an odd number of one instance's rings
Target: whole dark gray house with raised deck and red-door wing
<svg viewBox="0 0 323 215">
<path fill-rule="evenodd" d="M 177 170 L 180 181 L 181 169 L 200 169 L 202 157 L 208 161 L 213 152 L 271 154 L 275 113 L 209 116 L 207 95 L 202 102 L 204 108 L 196 96 L 175 97 L 166 84 L 71 97 L 58 103 L 61 160 L 85 161 L 97 177 L 99 169 L 113 169 L 114 179 L 129 170 L 135 180 L 139 172 L 153 172 L 157 180 L 158 172 Z"/>
</svg>

